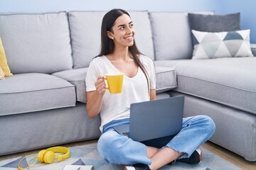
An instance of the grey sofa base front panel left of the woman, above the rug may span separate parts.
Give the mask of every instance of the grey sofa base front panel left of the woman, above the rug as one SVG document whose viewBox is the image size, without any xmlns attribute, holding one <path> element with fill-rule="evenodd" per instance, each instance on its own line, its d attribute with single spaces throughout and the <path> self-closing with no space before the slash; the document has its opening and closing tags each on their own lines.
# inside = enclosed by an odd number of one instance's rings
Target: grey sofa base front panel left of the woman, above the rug
<svg viewBox="0 0 256 170">
<path fill-rule="evenodd" d="M 91 119 L 85 104 L 0 117 L 0 153 L 15 152 L 91 140 L 100 136 L 100 117 Z M 18 142 L 17 142 L 18 141 Z"/>
</svg>

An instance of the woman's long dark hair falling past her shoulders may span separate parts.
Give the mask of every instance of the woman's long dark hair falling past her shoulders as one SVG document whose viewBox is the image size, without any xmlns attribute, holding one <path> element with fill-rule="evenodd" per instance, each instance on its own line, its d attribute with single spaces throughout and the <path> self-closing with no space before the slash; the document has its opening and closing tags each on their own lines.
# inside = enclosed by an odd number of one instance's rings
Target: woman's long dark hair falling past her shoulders
<svg viewBox="0 0 256 170">
<path fill-rule="evenodd" d="M 127 16 L 131 17 L 127 11 L 124 11 L 123 9 L 120 9 L 120 8 L 114 8 L 111 11 L 108 11 L 103 17 L 102 28 L 101 28 L 101 50 L 100 50 L 100 54 L 97 55 L 96 57 L 109 55 L 109 54 L 112 54 L 112 52 L 114 51 L 114 42 L 113 40 L 107 37 L 107 31 L 110 31 L 113 33 L 112 27 L 114 26 L 114 22 L 117 20 L 119 16 L 122 16 L 123 14 L 127 14 Z M 135 40 L 134 40 L 134 44 L 128 47 L 128 50 L 129 50 L 129 53 L 132 55 L 134 62 L 138 65 L 140 69 L 142 69 L 142 72 L 144 72 L 146 81 L 148 84 L 148 89 L 149 89 L 149 74 L 146 72 L 146 69 L 143 66 L 142 62 L 139 61 L 138 56 L 142 55 L 142 53 L 139 52 L 136 46 Z"/>
</svg>

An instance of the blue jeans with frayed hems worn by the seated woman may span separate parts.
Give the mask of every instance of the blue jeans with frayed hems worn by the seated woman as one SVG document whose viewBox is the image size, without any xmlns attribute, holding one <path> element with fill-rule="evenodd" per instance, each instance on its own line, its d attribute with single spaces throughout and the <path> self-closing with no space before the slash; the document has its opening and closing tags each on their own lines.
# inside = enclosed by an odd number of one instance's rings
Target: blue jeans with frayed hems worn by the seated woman
<svg viewBox="0 0 256 170">
<path fill-rule="evenodd" d="M 110 164 L 150 165 L 151 159 L 146 157 L 146 145 L 119 135 L 113 129 L 115 126 L 126 124 L 129 124 L 129 119 L 114 120 L 104 126 L 97 143 L 102 159 Z M 165 147 L 185 153 L 181 158 L 190 157 L 214 132 L 215 123 L 206 115 L 183 118 L 181 131 Z"/>
</svg>

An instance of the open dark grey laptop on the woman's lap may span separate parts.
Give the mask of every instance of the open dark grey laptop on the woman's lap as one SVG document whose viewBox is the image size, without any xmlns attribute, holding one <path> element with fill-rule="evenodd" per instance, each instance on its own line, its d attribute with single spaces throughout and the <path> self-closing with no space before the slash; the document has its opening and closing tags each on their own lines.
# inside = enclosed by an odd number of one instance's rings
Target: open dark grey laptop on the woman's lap
<svg viewBox="0 0 256 170">
<path fill-rule="evenodd" d="M 183 108 L 184 96 L 132 103 L 129 125 L 114 130 L 145 145 L 162 147 L 181 130 Z"/>
</svg>

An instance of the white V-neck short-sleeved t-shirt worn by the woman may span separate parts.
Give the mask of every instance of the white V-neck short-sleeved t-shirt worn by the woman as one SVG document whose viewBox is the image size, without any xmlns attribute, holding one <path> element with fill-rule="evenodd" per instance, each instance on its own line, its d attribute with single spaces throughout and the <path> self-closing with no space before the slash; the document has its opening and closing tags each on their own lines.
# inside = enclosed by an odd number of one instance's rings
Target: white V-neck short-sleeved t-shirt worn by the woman
<svg viewBox="0 0 256 170">
<path fill-rule="evenodd" d="M 140 62 L 144 65 L 149 74 L 150 89 L 156 89 L 156 72 L 154 62 L 144 55 L 139 56 Z M 86 91 L 95 91 L 95 81 L 97 77 L 105 77 L 107 73 L 120 74 L 119 70 L 107 59 L 107 57 L 96 57 L 90 62 L 86 75 Z M 100 110 L 101 126 L 110 123 L 112 120 L 129 118 L 131 103 L 149 101 L 149 91 L 145 74 L 142 69 L 138 69 L 137 74 L 130 78 L 124 75 L 122 93 L 110 94 L 106 90 L 103 96 L 102 108 Z"/>
</svg>

